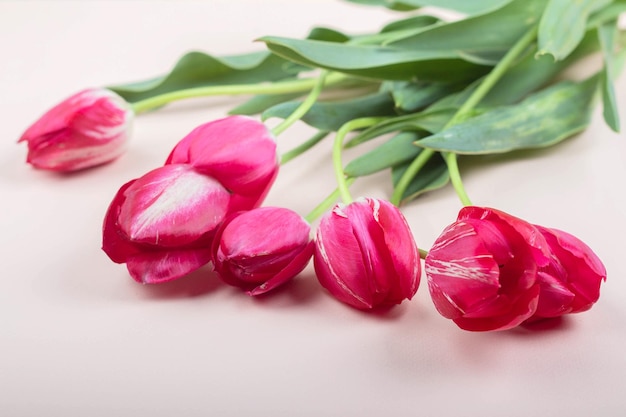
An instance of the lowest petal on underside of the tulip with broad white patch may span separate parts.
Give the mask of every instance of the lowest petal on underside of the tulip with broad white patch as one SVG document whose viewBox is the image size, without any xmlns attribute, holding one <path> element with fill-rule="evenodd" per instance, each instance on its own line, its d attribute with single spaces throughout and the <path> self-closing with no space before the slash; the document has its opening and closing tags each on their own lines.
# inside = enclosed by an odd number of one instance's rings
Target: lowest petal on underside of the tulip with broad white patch
<svg viewBox="0 0 626 417">
<path fill-rule="evenodd" d="M 144 284 L 159 284 L 187 275 L 207 264 L 211 251 L 207 249 L 143 252 L 131 256 L 126 267 L 131 277 Z"/>
</svg>

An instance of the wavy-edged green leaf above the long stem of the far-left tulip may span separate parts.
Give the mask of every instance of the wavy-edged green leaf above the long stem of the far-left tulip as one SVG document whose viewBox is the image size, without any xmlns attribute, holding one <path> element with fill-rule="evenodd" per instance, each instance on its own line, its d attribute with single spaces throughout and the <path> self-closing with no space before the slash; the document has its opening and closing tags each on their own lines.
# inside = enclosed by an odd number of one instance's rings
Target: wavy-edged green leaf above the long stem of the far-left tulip
<svg viewBox="0 0 626 417">
<path fill-rule="evenodd" d="M 303 69 L 268 51 L 226 57 L 189 52 L 167 75 L 109 88 L 132 103 L 196 87 L 277 81 L 292 78 Z"/>
</svg>

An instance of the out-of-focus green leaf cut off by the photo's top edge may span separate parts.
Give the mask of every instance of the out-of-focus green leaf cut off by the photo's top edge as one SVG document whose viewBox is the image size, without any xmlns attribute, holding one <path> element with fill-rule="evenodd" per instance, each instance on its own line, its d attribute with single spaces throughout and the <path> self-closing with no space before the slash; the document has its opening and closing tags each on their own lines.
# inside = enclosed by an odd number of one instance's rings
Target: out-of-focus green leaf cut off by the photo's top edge
<svg viewBox="0 0 626 417">
<path fill-rule="evenodd" d="M 415 10 L 423 6 L 434 6 L 460 13 L 480 14 L 495 10 L 511 0 L 348 0 L 370 6 L 384 6 L 392 10 Z"/>
</svg>

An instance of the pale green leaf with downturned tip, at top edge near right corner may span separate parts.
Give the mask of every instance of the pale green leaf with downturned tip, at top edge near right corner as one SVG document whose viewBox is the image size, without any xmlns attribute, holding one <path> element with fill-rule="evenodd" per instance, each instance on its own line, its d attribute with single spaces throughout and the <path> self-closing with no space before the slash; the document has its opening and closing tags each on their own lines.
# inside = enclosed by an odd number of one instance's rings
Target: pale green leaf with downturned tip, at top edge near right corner
<svg viewBox="0 0 626 417">
<path fill-rule="evenodd" d="M 559 61 L 582 41 L 589 15 L 612 0 L 549 0 L 539 22 L 539 55 Z"/>
</svg>

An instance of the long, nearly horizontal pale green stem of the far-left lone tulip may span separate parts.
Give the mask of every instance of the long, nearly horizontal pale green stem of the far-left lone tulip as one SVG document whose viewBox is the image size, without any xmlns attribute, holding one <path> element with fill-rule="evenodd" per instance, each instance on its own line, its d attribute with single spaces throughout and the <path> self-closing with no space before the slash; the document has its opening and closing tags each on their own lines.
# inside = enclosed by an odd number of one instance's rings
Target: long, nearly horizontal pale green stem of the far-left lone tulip
<svg viewBox="0 0 626 417">
<path fill-rule="evenodd" d="M 348 76 L 331 73 L 326 77 L 326 86 L 344 81 Z M 286 94 L 309 91 L 319 82 L 315 78 L 303 78 L 291 81 L 279 81 L 272 83 L 254 84 L 233 84 L 233 85 L 211 85 L 207 87 L 188 88 L 185 90 L 170 91 L 158 96 L 149 97 L 144 100 L 132 103 L 131 106 L 136 114 L 143 113 L 157 107 L 178 100 L 193 97 L 219 96 L 219 95 L 241 95 L 241 94 Z"/>
</svg>

